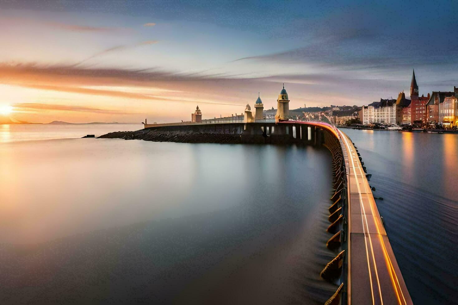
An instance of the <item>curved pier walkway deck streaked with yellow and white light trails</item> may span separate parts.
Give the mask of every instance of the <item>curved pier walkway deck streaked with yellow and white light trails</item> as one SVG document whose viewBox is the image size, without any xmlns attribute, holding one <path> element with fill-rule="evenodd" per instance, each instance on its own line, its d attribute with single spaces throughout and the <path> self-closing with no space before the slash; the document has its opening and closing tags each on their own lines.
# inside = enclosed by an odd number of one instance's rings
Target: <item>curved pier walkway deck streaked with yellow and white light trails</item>
<svg viewBox="0 0 458 305">
<path fill-rule="evenodd" d="M 357 150 L 349 137 L 324 122 L 285 121 L 322 128 L 337 137 L 347 181 L 347 303 L 412 304 L 382 224 Z"/>
</svg>

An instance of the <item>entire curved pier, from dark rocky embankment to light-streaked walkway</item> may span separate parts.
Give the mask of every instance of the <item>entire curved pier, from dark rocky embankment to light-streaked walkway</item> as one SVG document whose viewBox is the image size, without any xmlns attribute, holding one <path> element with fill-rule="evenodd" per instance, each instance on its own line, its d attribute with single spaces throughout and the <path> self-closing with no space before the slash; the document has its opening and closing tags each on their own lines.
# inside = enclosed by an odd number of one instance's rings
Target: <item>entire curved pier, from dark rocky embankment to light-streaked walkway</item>
<svg viewBox="0 0 458 305">
<path fill-rule="evenodd" d="M 332 123 L 183 122 L 145 125 L 144 129 L 129 133 L 124 139 L 327 147 L 333 156 L 334 179 L 327 229 L 330 238 L 326 246 L 339 253 L 323 266 L 321 273 L 322 278 L 339 285 L 327 304 L 412 304 L 369 186 L 370 175 L 354 143 Z M 164 133 L 168 137 L 156 136 Z M 114 138 L 121 137 L 113 134 Z"/>
</svg>

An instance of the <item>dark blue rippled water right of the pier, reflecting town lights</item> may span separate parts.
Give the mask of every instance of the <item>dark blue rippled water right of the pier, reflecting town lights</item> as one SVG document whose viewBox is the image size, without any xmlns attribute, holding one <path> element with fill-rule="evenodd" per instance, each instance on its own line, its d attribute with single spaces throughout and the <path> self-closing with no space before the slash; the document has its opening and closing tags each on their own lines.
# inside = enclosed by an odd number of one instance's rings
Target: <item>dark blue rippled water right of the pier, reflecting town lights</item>
<svg viewBox="0 0 458 305">
<path fill-rule="evenodd" d="M 363 158 L 414 304 L 457 304 L 458 135 L 342 129 Z"/>
</svg>

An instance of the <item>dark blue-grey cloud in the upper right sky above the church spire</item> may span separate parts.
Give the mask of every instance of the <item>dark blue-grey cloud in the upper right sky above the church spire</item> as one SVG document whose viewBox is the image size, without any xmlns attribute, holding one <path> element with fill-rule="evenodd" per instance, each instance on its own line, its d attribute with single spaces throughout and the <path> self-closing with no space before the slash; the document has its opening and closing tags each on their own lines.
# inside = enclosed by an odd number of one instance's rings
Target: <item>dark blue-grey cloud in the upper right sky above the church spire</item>
<svg viewBox="0 0 458 305">
<path fill-rule="evenodd" d="M 398 18 L 399 22 L 393 22 L 393 18 Z M 391 16 L 387 20 L 385 16 L 343 10 L 324 17 L 319 26 L 316 20 L 294 24 L 292 35 L 296 40 L 304 41 L 302 46 L 253 54 L 234 62 L 282 62 L 339 70 L 379 71 L 458 64 L 458 43 L 447 37 L 456 20 L 444 22 L 442 26 L 447 30 L 442 31 L 425 23 L 406 27 L 400 24 L 401 21 L 405 22 L 403 16 Z M 418 46 L 420 35 L 428 38 L 422 41 L 421 48 L 414 47 Z M 302 39 L 297 36 L 302 36 Z"/>
</svg>

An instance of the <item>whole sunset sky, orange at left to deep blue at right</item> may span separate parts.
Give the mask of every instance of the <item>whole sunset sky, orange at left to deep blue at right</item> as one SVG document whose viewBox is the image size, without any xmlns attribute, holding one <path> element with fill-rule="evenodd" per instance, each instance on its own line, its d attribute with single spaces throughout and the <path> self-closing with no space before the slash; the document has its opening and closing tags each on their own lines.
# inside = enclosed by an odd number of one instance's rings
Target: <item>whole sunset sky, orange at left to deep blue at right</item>
<svg viewBox="0 0 458 305">
<path fill-rule="evenodd" d="M 458 1 L 0 1 L 0 112 L 139 123 L 458 86 Z M 406 96 L 409 96 L 408 94 Z"/>
</svg>

